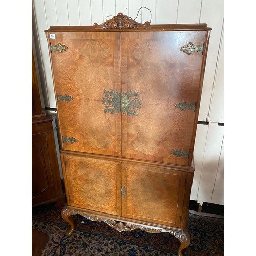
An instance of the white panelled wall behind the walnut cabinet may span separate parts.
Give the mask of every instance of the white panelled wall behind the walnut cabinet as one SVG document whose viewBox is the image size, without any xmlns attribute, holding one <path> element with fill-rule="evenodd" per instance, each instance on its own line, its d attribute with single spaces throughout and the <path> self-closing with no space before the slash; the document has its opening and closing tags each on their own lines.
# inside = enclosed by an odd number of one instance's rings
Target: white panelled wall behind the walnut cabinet
<svg viewBox="0 0 256 256">
<path fill-rule="evenodd" d="M 151 24 L 207 23 L 212 28 L 199 112 L 191 200 L 223 201 L 223 0 L 33 0 L 32 29 L 45 106 L 56 108 L 45 29 L 50 26 L 93 25 L 122 12 L 131 18 L 141 6 L 151 10 Z M 143 8 L 137 21 L 150 20 Z"/>
</svg>

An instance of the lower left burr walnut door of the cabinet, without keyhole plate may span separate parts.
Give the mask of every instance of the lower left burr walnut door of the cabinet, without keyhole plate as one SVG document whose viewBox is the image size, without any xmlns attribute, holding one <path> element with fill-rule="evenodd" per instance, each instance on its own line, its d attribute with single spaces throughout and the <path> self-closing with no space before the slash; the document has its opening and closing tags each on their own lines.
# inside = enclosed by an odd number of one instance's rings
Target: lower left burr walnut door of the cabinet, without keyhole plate
<svg viewBox="0 0 256 256">
<path fill-rule="evenodd" d="M 61 154 L 68 204 L 121 214 L 121 164 L 116 161 Z"/>
</svg>

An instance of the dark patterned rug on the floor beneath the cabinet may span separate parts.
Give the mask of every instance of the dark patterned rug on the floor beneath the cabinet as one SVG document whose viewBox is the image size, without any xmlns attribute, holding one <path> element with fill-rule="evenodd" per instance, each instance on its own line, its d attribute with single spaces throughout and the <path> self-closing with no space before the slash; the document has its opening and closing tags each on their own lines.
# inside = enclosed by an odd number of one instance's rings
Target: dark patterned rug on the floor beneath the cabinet
<svg viewBox="0 0 256 256">
<path fill-rule="evenodd" d="M 32 208 L 32 228 L 49 235 L 42 255 L 177 255 L 178 239 L 169 233 L 150 234 L 139 229 L 118 232 L 102 222 L 92 222 L 75 215 L 75 230 L 69 237 L 69 224 L 62 219 L 61 209 L 54 204 Z M 189 213 L 191 242 L 182 252 L 188 255 L 223 255 L 223 218 Z"/>
</svg>

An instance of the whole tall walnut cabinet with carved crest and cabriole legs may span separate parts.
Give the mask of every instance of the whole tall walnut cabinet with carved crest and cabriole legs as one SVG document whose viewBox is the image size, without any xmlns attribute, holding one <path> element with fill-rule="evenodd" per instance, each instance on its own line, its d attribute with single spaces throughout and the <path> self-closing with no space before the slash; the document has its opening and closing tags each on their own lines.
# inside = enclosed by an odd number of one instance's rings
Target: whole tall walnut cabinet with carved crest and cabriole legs
<svg viewBox="0 0 256 256">
<path fill-rule="evenodd" d="M 191 167 L 210 28 L 119 13 L 46 30 L 67 195 L 62 216 L 190 242 Z"/>
</svg>

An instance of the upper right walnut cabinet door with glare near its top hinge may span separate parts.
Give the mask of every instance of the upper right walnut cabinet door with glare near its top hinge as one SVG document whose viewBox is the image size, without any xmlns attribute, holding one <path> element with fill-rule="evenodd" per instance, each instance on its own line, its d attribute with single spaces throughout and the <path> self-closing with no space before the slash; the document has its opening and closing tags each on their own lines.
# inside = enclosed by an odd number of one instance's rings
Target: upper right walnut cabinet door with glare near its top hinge
<svg viewBox="0 0 256 256">
<path fill-rule="evenodd" d="M 124 157 L 189 164 L 205 36 L 205 31 L 121 32 Z"/>
</svg>

